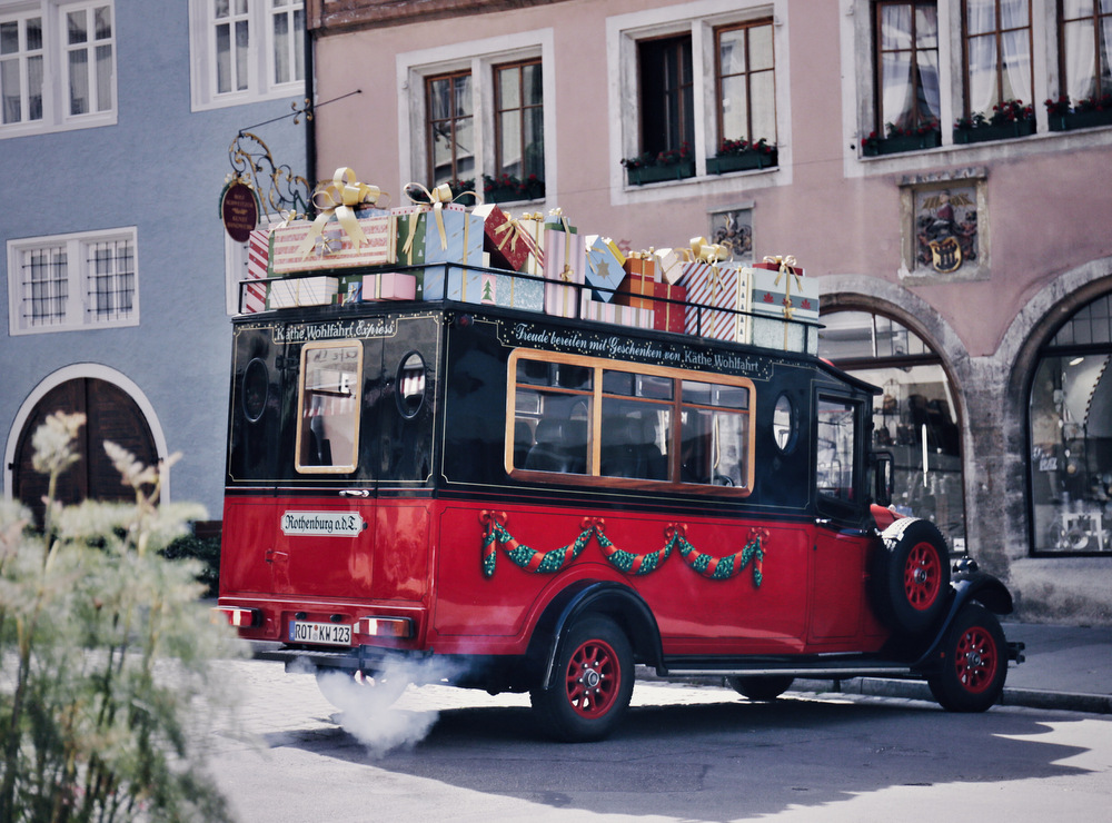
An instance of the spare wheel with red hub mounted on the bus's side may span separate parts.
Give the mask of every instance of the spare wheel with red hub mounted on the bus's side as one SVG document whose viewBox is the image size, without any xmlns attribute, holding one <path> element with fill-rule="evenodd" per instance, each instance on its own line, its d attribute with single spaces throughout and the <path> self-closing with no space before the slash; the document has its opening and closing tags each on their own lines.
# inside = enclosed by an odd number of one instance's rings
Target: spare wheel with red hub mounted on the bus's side
<svg viewBox="0 0 1112 823">
<path fill-rule="evenodd" d="M 904 517 L 881 534 L 873 584 L 881 618 L 911 635 L 937 625 L 950 601 L 950 553 L 939 527 Z"/>
</svg>

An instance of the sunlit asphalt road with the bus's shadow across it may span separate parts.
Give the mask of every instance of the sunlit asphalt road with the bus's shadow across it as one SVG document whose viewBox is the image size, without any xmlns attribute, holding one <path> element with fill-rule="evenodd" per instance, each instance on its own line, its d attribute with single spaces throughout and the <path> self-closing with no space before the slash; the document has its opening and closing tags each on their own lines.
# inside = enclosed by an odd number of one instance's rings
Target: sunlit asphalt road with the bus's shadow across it
<svg viewBox="0 0 1112 823">
<path fill-rule="evenodd" d="M 228 674 L 250 738 L 207 747 L 244 823 L 1109 820 L 1106 716 L 638 682 L 617 734 L 567 745 L 524 695 L 410 687 L 344 713 L 280 664 Z"/>
</svg>

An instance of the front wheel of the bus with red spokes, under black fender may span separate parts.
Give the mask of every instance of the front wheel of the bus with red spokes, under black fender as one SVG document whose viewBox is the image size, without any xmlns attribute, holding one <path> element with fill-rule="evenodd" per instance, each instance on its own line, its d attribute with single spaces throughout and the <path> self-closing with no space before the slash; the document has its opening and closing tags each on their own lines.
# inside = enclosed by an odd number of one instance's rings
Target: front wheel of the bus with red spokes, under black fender
<svg viewBox="0 0 1112 823">
<path fill-rule="evenodd" d="M 942 645 L 942 670 L 927 677 L 947 712 L 983 712 L 1000 700 L 1007 677 L 1007 646 L 1000 621 L 977 603 L 962 606 Z"/>
</svg>

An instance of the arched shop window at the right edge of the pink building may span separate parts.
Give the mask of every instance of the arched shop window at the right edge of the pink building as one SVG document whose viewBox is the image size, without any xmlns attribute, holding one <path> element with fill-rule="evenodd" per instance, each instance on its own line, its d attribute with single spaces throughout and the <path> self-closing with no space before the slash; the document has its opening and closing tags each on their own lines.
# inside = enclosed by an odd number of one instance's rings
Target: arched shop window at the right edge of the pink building
<svg viewBox="0 0 1112 823">
<path fill-rule="evenodd" d="M 1112 552 L 1112 295 L 1039 350 L 1027 408 L 1032 553 Z"/>
</svg>

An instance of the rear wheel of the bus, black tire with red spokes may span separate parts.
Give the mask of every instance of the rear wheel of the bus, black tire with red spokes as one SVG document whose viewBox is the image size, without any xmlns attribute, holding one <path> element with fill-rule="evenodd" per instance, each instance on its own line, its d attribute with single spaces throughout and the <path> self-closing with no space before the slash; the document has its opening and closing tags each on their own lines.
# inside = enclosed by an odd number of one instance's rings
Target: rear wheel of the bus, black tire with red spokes
<svg viewBox="0 0 1112 823">
<path fill-rule="evenodd" d="M 633 648 L 608 617 L 588 616 L 563 637 L 550 688 L 529 693 L 542 728 L 568 743 L 607 736 L 633 694 Z"/>
</svg>

